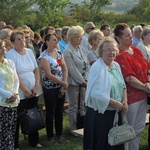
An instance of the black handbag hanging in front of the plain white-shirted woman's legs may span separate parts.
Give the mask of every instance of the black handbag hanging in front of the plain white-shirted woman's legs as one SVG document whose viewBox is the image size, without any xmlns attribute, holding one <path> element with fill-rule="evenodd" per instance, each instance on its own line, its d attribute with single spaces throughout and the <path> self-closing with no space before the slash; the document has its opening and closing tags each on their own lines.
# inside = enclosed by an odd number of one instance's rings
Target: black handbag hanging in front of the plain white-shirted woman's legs
<svg viewBox="0 0 150 150">
<path fill-rule="evenodd" d="M 29 134 L 45 127 L 44 113 L 42 105 L 26 109 L 19 113 L 22 134 Z"/>
</svg>

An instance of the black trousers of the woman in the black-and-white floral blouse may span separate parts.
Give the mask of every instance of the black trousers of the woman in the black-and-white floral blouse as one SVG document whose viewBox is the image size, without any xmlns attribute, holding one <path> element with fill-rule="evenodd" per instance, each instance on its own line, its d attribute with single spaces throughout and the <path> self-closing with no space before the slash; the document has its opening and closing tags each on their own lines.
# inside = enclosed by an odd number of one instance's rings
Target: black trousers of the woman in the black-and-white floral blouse
<svg viewBox="0 0 150 150">
<path fill-rule="evenodd" d="M 45 107 L 46 107 L 46 132 L 47 138 L 54 137 L 53 123 L 55 119 L 56 136 L 62 135 L 63 129 L 63 107 L 65 95 L 58 97 L 59 88 L 45 89 L 43 88 Z"/>
</svg>

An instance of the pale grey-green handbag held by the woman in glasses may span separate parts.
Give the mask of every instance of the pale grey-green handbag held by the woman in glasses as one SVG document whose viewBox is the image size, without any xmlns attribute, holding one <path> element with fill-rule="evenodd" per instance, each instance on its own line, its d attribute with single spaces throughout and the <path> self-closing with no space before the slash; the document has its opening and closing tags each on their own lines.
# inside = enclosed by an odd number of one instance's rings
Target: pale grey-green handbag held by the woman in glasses
<svg viewBox="0 0 150 150">
<path fill-rule="evenodd" d="M 120 145 L 135 139 L 135 132 L 128 124 L 126 114 L 122 114 L 123 125 L 118 126 L 118 112 L 115 113 L 113 128 L 108 133 L 108 143 L 111 146 Z"/>
</svg>

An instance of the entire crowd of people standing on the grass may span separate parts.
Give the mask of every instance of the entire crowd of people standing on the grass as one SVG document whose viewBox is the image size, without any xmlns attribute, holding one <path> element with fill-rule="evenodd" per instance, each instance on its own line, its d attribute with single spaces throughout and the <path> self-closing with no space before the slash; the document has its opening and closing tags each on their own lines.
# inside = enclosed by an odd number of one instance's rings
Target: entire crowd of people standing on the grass
<svg viewBox="0 0 150 150">
<path fill-rule="evenodd" d="M 71 134 L 78 111 L 85 116 L 84 150 L 138 150 L 150 94 L 150 26 L 119 23 L 98 29 L 87 22 L 84 28 L 48 26 L 36 33 L 27 25 L 14 28 L 0 21 L 1 150 L 19 150 L 18 116 L 38 106 L 40 86 L 51 144 L 69 142 L 63 136 L 67 101 Z M 119 125 L 126 114 L 136 138 L 111 146 L 108 132 L 116 112 Z M 150 130 L 148 137 L 150 148 Z M 28 141 L 43 147 L 38 131 L 28 133 Z"/>
</svg>

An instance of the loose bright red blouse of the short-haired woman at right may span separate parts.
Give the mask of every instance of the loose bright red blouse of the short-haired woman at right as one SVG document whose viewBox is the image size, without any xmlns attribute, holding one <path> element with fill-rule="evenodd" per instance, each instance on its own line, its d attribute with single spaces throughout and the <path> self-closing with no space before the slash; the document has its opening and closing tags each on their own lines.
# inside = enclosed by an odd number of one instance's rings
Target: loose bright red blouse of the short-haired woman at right
<svg viewBox="0 0 150 150">
<path fill-rule="evenodd" d="M 133 55 L 120 49 L 120 54 L 116 57 L 116 61 L 120 64 L 123 77 L 126 78 L 132 75 L 142 83 L 146 83 L 148 80 L 147 72 L 150 69 L 150 66 L 138 48 L 134 46 L 131 46 L 130 48 L 132 48 L 134 52 Z M 126 85 L 128 104 L 141 101 L 147 97 L 145 92 L 135 89 L 127 83 Z"/>
</svg>

